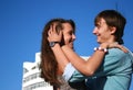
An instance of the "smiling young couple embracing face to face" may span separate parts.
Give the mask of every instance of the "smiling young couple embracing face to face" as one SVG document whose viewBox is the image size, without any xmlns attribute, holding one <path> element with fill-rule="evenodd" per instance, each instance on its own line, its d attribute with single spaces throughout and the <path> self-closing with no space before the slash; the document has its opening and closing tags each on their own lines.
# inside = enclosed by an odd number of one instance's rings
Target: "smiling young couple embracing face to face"
<svg viewBox="0 0 133 90">
<path fill-rule="evenodd" d="M 74 22 L 51 20 L 42 33 L 41 77 L 59 89 L 59 76 L 62 76 L 70 83 L 85 80 L 85 89 L 79 90 L 129 90 L 133 56 L 121 45 L 125 23 L 125 18 L 115 10 L 100 12 L 93 30 L 100 46 L 84 60 L 73 50 Z"/>
</svg>

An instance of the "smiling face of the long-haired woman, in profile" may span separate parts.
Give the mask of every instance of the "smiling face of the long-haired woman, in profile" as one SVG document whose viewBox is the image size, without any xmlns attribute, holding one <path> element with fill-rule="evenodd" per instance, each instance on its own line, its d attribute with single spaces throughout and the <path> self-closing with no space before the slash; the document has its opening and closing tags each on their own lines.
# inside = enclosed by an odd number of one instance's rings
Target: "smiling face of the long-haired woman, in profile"
<svg viewBox="0 0 133 90">
<path fill-rule="evenodd" d="M 73 42 L 75 40 L 74 30 L 69 23 L 63 23 L 63 40 L 64 44 L 73 48 Z"/>
</svg>

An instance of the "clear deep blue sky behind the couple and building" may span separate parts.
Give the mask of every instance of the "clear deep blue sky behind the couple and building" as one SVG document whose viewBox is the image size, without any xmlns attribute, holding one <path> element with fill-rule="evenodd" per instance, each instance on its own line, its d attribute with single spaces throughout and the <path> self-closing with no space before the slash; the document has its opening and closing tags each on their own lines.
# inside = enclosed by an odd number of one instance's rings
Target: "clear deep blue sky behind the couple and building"
<svg viewBox="0 0 133 90">
<path fill-rule="evenodd" d="M 73 19 L 75 52 L 90 56 L 96 46 L 93 19 L 105 9 L 117 9 L 127 19 L 123 40 L 133 50 L 133 0 L 0 0 L 1 89 L 21 90 L 23 61 L 34 61 L 43 26 L 50 19 Z"/>
</svg>

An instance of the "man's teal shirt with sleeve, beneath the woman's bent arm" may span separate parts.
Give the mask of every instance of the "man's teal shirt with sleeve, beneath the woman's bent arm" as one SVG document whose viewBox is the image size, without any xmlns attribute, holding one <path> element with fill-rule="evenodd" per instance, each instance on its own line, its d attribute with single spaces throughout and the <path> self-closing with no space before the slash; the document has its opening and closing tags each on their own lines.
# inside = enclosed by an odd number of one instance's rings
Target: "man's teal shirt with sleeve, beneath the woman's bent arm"
<svg viewBox="0 0 133 90">
<path fill-rule="evenodd" d="M 90 90 L 129 90 L 133 72 L 133 56 L 111 48 L 94 76 L 86 77 L 75 70 L 70 82 L 88 79 Z"/>
</svg>

